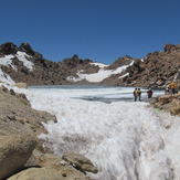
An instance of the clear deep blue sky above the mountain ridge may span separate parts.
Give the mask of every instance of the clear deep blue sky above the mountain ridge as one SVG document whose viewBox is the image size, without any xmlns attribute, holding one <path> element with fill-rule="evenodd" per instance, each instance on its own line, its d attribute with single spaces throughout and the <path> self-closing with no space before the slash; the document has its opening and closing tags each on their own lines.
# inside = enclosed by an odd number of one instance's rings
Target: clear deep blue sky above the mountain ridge
<svg viewBox="0 0 180 180">
<path fill-rule="evenodd" d="M 43 57 L 110 64 L 180 44 L 180 0 L 6 0 L 0 44 L 28 42 Z"/>
</svg>

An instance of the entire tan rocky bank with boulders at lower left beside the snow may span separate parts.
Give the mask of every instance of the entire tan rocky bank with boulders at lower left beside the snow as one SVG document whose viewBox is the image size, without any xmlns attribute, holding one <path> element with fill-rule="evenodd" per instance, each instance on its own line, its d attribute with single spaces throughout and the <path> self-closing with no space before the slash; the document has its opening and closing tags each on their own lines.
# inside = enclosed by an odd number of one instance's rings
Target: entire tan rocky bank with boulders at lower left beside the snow
<svg viewBox="0 0 180 180">
<path fill-rule="evenodd" d="M 91 180 L 97 172 L 89 159 L 66 152 L 56 157 L 43 149 L 38 135 L 42 123 L 55 116 L 31 108 L 24 94 L 0 87 L 0 179 L 1 180 Z"/>
</svg>

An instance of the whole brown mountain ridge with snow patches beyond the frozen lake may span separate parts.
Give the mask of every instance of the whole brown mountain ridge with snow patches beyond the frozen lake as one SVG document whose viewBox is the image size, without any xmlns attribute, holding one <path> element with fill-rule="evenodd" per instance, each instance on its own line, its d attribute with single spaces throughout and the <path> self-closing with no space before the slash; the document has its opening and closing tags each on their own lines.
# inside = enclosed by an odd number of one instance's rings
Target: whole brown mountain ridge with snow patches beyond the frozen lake
<svg viewBox="0 0 180 180">
<path fill-rule="evenodd" d="M 105 65 L 82 60 L 76 54 L 61 62 L 45 60 L 28 43 L 0 45 L 0 80 L 28 85 L 100 84 L 126 86 L 165 86 L 180 70 L 180 45 L 167 44 L 165 52 L 145 59 L 119 57 Z"/>
</svg>

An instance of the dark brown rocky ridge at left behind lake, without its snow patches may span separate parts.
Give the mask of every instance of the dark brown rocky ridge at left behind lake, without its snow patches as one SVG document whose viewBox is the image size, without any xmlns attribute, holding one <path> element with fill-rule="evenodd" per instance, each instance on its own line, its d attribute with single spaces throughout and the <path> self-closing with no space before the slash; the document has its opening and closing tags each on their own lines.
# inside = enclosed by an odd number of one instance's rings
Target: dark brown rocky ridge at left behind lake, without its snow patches
<svg viewBox="0 0 180 180">
<path fill-rule="evenodd" d="M 66 81 L 66 77 L 70 75 L 76 76 L 78 70 L 85 70 L 86 73 L 94 73 L 99 70 L 97 66 L 89 64 L 93 61 L 78 59 L 76 54 L 72 59 L 64 59 L 57 63 L 45 60 L 40 53 L 33 51 L 28 43 L 22 43 L 20 47 L 10 42 L 2 44 L 0 46 L 0 57 L 10 54 L 14 55 L 18 51 L 30 55 L 27 59 L 34 64 L 33 71 L 25 67 L 15 56 L 12 59 L 12 63 L 18 71 L 6 65 L 1 65 L 0 68 L 10 75 L 14 82 L 24 82 L 28 85 L 72 84 L 72 82 Z"/>
</svg>

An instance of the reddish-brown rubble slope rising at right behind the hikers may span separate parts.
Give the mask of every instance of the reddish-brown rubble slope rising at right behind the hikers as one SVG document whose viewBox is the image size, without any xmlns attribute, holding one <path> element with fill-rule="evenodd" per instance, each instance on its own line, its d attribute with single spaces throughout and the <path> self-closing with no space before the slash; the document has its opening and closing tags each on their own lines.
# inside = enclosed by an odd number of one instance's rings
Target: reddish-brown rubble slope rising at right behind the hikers
<svg viewBox="0 0 180 180">
<path fill-rule="evenodd" d="M 166 87 L 180 71 L 180 45 L 166 44 L 165 52 L 149 53 L 145 59 L 134 61 L 134 64 L 125 72 L 112 75 L 102 84 L 112 82 L 112 85 Z M 128 75 L 124 78 L 118 78 L 127 73 Z M 180 73 L 176 81 L 180 88 Z"/>
</svg>

